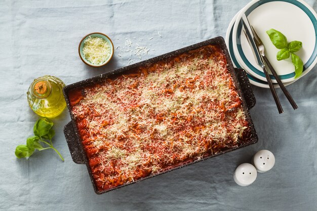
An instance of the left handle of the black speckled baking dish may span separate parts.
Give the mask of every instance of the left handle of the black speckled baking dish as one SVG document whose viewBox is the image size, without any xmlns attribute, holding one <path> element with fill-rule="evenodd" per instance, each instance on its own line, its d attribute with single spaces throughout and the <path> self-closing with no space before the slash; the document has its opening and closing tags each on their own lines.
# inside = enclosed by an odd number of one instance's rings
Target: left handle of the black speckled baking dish
<svg viewBox="0 0 317 211">
<path fill-rule="evenodd" d="M 70 121 L 64 126 L 64 135 L 72 160 L 77 164 L 84 164 L 84 152 L 81 149 L 75 130 L 75 125 Z"/>
</svg>

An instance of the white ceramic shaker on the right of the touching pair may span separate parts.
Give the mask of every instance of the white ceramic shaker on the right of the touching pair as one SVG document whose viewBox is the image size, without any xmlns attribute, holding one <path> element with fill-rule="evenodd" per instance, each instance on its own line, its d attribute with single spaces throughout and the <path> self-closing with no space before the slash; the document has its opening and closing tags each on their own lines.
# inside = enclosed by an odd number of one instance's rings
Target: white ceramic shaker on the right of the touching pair
<svg viewBox="0 0 317 211">
<path fill-rule="evenodd" d="M 259 173 L 267 172 L 275 164 L 275 157 L 268 150 L 260 150 L 252 157 L 252 164 Z"/>
</svg>

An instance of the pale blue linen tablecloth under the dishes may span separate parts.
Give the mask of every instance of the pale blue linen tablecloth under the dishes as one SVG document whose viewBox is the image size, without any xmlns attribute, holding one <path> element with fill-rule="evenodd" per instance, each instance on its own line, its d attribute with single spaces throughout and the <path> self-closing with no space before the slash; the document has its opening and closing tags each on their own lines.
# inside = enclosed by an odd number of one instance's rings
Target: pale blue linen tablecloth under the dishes
<svg viewBox="0 0 317 211">
<path fill-rule="evenodd" d="M 29 159 L 14 155 L 38 118 L 26 100 L 34 78 L 54 75 L 70 84 L 140 61 L 131 52 L 120 54 L 126 39 L 150 49 L 141 55 L 145 60 L 224 37 L 231 18 L 248 2 L 0 1 L 0 210 L 316 210 L 316 67 L 287 87 L 296 111 L 278 90 L 285 109 L 279 115 L 270 91 L 253 87 L 257 144 L 106 194 L 96 195 L 86 166 L 71 159 L 63 134 L 67 110 L 53 119 L 53 143 L 65 162 L 53 150 Z M 316 1 L 307 3 L 317 9 Z M 81 38 L 95 31 L 120 46 L 101 68 L 85 65 L 77 53 Z M 235 167 L 260 149 L 275 154 L 275 166 L 251 186 L 236 185 Z"/>
</svg>

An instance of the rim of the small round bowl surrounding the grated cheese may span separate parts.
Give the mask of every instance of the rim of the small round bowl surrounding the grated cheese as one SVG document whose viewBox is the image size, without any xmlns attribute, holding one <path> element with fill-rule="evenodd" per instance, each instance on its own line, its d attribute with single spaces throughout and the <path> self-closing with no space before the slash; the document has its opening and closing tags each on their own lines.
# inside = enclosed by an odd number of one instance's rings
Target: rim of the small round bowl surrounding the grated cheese
<svg viewBox="0 0 317 211">
<path fill-rule="evenodd" d="M 108 58 L 105 62 L 96 65 L 96 64 L 90 63 L 90 62 L 85 58 L 84 53 L 83 53 L 84 41 L 85 41 L 89 36 L 103 38 L 103 39 L 106 40 L 106 41 L 108 42 L 108 44 L 110 45 L 110 56 L 109 56 L 109 58 Z M 105 34 L 103 34 L 103 33 L 100 33 L 100 32 L 94 32 L 94 33 L 87 34 L 86 36 L 84 36 L 84 37 L 82 38 L 82 40 L 80 41 L 80 44 L 79 44 L 79 46 L 78 46 L 78 53 L 79 53 L 79 55 L 80 55 L 82 61 L 83 61 L 85 64 L 87 64 L 87 65 L 89 65 L 89 66 L 91 66 L 91 67 L 101 67 L 101 66 L 107 64 L 107 63 L 111 60 L 111 58 L 112 58 L 112 56 L 113 56 L 113 54 L 114 54 L 114 47 L 113 47 L 113 43 L 112 43 L 111 39 L 110 39 L 107 35 L 105 35 Z"/>
</svg>

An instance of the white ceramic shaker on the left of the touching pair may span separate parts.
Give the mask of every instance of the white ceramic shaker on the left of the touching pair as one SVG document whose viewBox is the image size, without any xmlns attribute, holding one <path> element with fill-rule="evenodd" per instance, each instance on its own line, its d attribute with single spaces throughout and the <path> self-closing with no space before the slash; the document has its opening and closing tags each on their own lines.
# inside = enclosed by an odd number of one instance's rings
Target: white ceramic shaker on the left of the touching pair
<svg viewBox="0 0 317 211">
<path fill-rule="evenodd" d="M 255 167 L 250 163 L 242 163 L 235 169 L 233 179 L 240 186 L 251 185 L 257 177 Z"/>
</svg>

